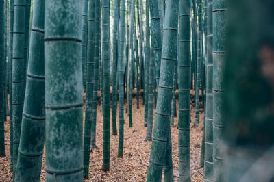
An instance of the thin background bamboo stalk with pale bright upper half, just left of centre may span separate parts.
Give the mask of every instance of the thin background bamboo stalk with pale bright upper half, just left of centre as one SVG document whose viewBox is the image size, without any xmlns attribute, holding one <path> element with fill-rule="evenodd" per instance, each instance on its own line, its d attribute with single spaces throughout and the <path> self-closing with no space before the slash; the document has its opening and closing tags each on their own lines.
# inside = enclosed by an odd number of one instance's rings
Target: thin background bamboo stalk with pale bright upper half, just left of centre
<svg viewBox="0 0 274 182">
<path fill-rule="evenodd" d="M 133 34 L 134 34 L 134 0 L 131 3 L 131 10 L 130 10 L 130 29 L 129 29 L 129 66 L 128 66 L 128 73 L 129 73 L 129 127 L 132 127 L 132 89 L 133 89 L 133 71 L 134 71 L 134 41 L 133 41 Z"/>
</svg>

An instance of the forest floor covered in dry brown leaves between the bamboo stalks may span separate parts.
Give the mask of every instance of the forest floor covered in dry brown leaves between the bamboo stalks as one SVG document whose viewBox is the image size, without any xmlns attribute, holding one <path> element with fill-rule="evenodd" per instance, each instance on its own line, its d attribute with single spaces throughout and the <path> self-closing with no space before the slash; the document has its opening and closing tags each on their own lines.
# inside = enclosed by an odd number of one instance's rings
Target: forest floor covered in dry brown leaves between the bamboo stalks
<svg viewBox="0 0 274 182">
<path fill-rule="evenodd" d="M 194 92 L 191 90 L 191 98 Z M 123 158 L 117 157 L 119 139 L 119 109 L 117 109 L 117 133 L 112 135 L 112 118 L 110 118 L 110 171 L 103 172 L 102 153 L 103 153 L 103 116 L 101 115 L 101 105 L 97 107 L 97 148 L 90 153 L 90 179 L 84 181 L 146 181 L 147 169 L 149 165 L 149 154 L 151 142 L 145 141 L 146 127 L 144 127 L 144 110 L 142 97 L 140 96 L 140 109 L 137 109 L 136 90 L 134 90 L 132 101 L 132 125 L 129 128 L 129 119 L 125 113 L 124 126 L 124 148 Z M 178 100 L 177 101 L 177 114 Z M 119 106 L 117 105 L 117 108 Z M 155 109 L 154 109 L 155 114 Z M 178 116 L 178 115 L 177 115 Z M 193 127 L 195 119 L 194 99 L 191 99 L 191 123 L 190 123 L 190 168 L 191 181 L 203 181 L 203 168 L 200 167 L 201 140 L 203 135 L 203 108 L 200 102 L 200 123 Z M 175 181 L 179 181 L 179 159 L 178 159 L 178 117 L 175 117 L 175 127 L 171 127 L 172 155 L 173 155 L 173 174 Z M 6 157 L 0 158 L 0 181 L 12 181 L 10 172 L 10 122 L 5 122 L 5 152 Z M 42 161 L 42 172 L 40 181 L 45 181 L 45 153 Z"/>
</svg>

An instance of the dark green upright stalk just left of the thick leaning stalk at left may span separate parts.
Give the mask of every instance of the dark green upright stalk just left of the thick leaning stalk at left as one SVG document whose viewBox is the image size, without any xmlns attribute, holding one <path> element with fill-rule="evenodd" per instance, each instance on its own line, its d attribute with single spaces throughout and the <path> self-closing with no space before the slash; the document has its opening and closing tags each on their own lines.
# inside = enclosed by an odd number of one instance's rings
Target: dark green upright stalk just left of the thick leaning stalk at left
<svg viewBox="0 0 274 182">
<path fill-rule="evenodd" d="M 12 131 L 14 174 L 16 172 L 17 154 L 21 135 L 21 122 L 25 93 L 25 0 L 14 1 L 14 33 L 12 53 Z"/>
</svg>

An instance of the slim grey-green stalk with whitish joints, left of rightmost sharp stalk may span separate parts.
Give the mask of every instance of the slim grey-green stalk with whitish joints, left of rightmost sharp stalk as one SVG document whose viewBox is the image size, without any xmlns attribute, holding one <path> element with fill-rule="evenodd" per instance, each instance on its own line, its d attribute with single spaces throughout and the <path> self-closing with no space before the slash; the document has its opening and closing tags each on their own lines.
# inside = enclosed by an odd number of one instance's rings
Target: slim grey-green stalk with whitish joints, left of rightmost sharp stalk
<svg viewBox="0 0 274 182">
<path fill-rule="evenodd" d="M 212 0 L 208 0 L 208 45 L 207 45 L 207 61 L 206 61 L 206 134 L 205 134 L 205 164 L 204 164 L 204 181 L 213 181 L 213 133 L 212 133 L 212 120 L 213 120 L 213 92 L 212 92 Z"/>
</svg>

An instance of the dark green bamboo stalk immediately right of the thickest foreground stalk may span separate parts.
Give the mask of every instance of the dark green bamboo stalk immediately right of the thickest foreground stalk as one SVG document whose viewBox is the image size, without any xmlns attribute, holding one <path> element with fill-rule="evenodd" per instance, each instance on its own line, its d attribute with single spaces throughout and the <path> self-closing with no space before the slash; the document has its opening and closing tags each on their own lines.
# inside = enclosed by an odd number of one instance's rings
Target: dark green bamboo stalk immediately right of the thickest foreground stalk
<svg viewBox="0 0 274 182">
<path fill-rule="evenodd" d="M 85 5 L 84 5 L 85 4 Z M 86 8 L 85 8 L 86 7 Z M 88 11 L 88 12 L 87 12 Z M 93 91 L 94 91 L 94 70 L 95 70 L 95 1 L 82 2 L 82 14 L 88 15 L 88 27 L 84 28 L 88 30 L 88 38 L 82 31 L 83 40 L 87 40 L 88 47 L 82 46 L 82 51 L 87 52 L 86 62 L 86 113 L 85 113 L 85 125 L 84 125 L 84 179 L 88 179 L 88 168 L 90 164 L 90 138 L 91 138 L 91 127 L 93 118 Z M 86 17 L 85 20 L 86 21 Z M 83 16 L 82 16 L 83 18 Z M 83 23 L 83 20 L 82 20 Z M 82 25 L 82 29 L 83 29 Z M 84 43 L 83 43 L 84 44 Z M 83 57 L 82 57 L 83 58 Z M 84 76 L 84 75 L 83 75 Z"/>
</svg>

